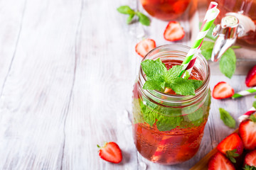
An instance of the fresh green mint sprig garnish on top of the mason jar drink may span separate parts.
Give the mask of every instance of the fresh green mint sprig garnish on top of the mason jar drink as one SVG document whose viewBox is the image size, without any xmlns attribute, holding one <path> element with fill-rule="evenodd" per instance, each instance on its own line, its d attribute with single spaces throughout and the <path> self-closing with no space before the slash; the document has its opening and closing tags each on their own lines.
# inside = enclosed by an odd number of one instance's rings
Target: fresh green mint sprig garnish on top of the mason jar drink
<svg viewBox="0 0 256 170">
<path fill-rule="evenodd" d="M 176 94 L 183 96 L 195 95 L 195 90 L 203 84 L 203 81 L 183 79 L 179 77 L 182 66 L 176 65 L 167 70 L 160 59 L 144 60 L 142 69 L 146 74 L 146 83 L 143 89 L 164 91 L 165 88 L 172 89 Z M 188 77 L 185 73 L 185 77 Z"/>
</svg>

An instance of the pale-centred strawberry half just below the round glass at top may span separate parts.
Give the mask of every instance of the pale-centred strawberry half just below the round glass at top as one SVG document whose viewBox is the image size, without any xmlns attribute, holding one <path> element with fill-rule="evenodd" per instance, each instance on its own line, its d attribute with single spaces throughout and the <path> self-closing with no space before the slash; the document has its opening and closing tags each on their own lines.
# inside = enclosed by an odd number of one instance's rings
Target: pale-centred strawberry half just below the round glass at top
<svg viewBox="0 0 256 170">
<path fill-rule="evenodd" d="M 164 39 L 169 41 L 181 40 L 185 35 L 185 31 L 176 21 L 170 21 L 164 30 Z"/>
</svg>

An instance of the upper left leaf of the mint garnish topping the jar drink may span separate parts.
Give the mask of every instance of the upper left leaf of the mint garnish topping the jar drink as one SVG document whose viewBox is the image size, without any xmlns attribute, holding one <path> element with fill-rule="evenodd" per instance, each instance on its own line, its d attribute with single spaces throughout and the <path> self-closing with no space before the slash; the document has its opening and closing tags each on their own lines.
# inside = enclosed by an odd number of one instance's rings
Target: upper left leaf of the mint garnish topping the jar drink
<svg viewBox="0 0 256 170">
<path fill-rule="evenodd" d="M 143 72 L 146 74 L 146 79 L 163 79 L 167 69 L 160 59 L 144 60 L 142 62 Z"/>
</svg>

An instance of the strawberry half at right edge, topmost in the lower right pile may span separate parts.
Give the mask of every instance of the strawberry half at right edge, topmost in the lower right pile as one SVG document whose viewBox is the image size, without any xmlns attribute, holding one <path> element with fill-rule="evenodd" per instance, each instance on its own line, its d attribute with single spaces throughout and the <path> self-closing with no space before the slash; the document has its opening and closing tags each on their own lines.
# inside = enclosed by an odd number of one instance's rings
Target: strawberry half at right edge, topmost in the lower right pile
<svg viewBox="0 0 256 170">
<path fill-rule="evenodd" d="M 256 149 L 256 123 L 245 120 L 239 125 L 239 135 L 245 149 Z"/>
</svg>

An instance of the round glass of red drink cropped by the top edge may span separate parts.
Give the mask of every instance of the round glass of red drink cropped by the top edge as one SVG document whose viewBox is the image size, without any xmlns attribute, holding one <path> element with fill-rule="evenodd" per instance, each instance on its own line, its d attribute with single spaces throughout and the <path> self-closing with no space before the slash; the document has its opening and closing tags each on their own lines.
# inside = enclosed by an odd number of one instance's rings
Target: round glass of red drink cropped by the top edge
<svg viewBox="0 0 256 170">
<path fill-rule="evenodd" d="M 171 21 L 187 12 L 196 11 L 197 1 L 192 0 L 140 0 L 143 8 L 155 18 Z M 189 13 L 189 14 L 188 14 Z"/>
</svg>

